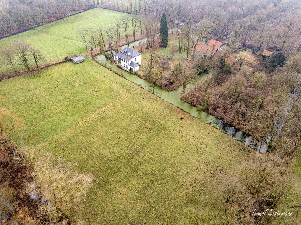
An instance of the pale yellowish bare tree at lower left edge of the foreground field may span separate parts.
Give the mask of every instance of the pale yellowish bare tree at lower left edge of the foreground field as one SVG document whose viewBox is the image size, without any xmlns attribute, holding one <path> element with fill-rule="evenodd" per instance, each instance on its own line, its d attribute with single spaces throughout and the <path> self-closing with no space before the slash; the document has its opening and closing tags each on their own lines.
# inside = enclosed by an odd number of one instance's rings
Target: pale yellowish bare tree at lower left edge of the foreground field
<svg viewBox="0 0 301 225">
<path fill-rule="evenodd" d="M 63 211 L 64 217 L 71 205 L 84 198 L 93 176 L 83 175 L 73 170 L 76 164 L 56 161 L 51 153 L 42 155 L 36 161 L 35 172 L 39 189 L 55 208 Z"/>
</svg>

